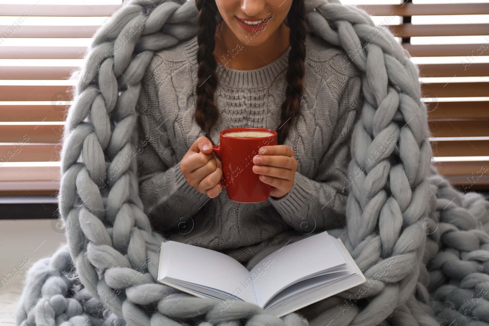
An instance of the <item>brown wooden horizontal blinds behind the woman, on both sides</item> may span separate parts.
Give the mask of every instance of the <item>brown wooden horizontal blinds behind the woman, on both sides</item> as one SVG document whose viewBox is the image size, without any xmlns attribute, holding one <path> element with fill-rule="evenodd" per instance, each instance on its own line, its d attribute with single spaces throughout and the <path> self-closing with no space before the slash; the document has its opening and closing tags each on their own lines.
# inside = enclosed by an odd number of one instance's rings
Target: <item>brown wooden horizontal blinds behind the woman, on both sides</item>
<svg viewBox="0 0 489 326">
<path fill-rule="evenodd" d="M 413 1 L 355 5 L 419 65 L 439 172 L 460 188 L 489 188 L 489 3 Z M 0 4 L 0 195 L 57 192 L 67 78 L 120 5 Z"/>
</svg>

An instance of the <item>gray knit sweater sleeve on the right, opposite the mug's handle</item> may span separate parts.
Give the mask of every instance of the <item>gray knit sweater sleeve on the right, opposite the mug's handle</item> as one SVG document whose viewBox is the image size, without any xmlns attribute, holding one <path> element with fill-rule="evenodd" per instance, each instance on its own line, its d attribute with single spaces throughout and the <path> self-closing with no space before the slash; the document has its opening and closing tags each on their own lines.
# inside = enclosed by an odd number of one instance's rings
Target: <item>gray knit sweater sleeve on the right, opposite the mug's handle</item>
<svg viewBox="0 0 489 326">
<path fill-rule="evenodd" d="M 268 200 L 284 221 L 301 233 L 342 227 L 345 223 L 348 188 L 348 164 L 351 160 L 350 139 L 362 103 L 361 78 L 350 77 L 339 105 L 339 116 L 332 140 L 319 161 L 314 178 L 296 171 L 292 189 L 285 196 Z"/>
</svg>

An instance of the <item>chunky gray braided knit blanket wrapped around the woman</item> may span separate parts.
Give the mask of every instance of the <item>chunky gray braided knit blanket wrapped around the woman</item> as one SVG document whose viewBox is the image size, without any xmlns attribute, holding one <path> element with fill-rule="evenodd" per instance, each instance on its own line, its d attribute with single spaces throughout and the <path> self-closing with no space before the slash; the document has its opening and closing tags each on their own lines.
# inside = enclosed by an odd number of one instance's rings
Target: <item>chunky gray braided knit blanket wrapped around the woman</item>
<svg viewBox="0 0 489 326">
<path fill-rule="evenodd" d="M 489 325 L 489 202 L 430 165 L 417 66 L 366 12 L 306 3 L 309 31 L 364 72 L 347 226 L 330 233 L 368 282 L 282 318 L 156 282 L 165 239 L 143 213 L 135 160 L 106 176 L 136 145 L 134 108 L 154 52 L 194 36 L 198 11 L 193 0 L 131 0 L 95 34 L 80 72 L 61 155 L 67 245 L 29 270 L 18 325 Z"/>
</svg>

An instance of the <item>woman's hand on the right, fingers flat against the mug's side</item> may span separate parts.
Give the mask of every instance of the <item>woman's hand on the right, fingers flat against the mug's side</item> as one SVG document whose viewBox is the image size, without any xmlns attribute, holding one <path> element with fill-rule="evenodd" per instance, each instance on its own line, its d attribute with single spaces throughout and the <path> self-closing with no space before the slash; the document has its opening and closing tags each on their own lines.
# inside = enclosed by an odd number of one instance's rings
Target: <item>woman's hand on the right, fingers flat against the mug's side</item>
<svg viewBox="0 0 489 326">
<path fill-rule="evenodd" d="M 287 145 L 263 146 L 253 157 L 253 172 L 261 174 L 260 180 L 271 186 L 275 199 L 287 195 L 294 184 L 297 161 L 294 150 Z"/>
</svg>

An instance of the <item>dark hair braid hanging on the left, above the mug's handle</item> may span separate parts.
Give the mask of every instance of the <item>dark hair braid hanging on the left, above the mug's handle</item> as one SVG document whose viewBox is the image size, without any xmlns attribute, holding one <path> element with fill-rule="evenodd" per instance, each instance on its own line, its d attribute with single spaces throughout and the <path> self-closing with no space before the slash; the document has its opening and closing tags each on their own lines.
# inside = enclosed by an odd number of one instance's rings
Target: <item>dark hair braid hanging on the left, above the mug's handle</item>
<svg viewBox="0 0 489 326">
<path fill-rule="evenodd" d="M 199 49 L 197 50 L 197 111 L 195 120 L 197 124 L 205 131 L 205 136 L 210 138 L 212 126 L 219 118 L 219 110 L 214 103 L 214 91 L 218 85 L 216 74 L 216 59 L 214 58 L 214 47 L 216 41 L 216 13 L 218 12 L 215 0 L 196 0 L 195 4 L 199 9 L 199 31 L 197 41 Z"/>
</svg>

